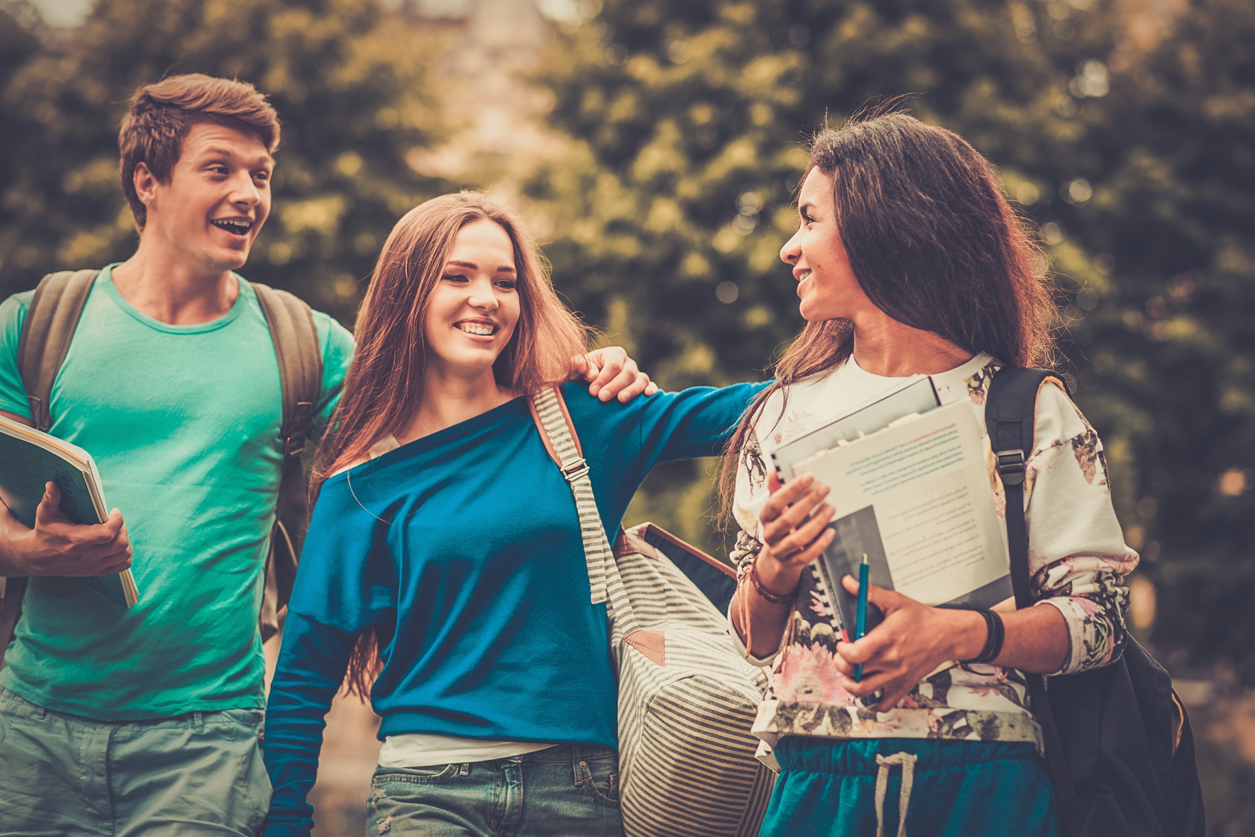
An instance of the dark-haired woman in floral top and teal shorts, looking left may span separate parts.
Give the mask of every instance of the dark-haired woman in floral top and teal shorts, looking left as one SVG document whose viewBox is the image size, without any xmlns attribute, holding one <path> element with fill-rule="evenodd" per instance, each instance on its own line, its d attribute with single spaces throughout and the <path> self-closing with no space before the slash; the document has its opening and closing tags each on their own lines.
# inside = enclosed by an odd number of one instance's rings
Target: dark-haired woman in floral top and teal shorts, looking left
<svg viewBox="0 0 1255 837">
<path fill-rule="evenodd" d="M 802 572 L 833 537 L 827 488 L 807 477 L 779 488 L 764 459 L 919 375 L 932 376 L 943 404 L 970 402 L 984 428 L 994 373 L 1050 360 L 1044 260 L 993 167 L 959 136 L 901 113 L 820 133 L 798 215 L 781 257 L 807 325 L 723 472 L 742 527 L 733 635 L 773 665 L 754 730 L 782 774 L 762 833 L 1057 834 L 1024 673 L 1118 659 L 1122 577 L 1137 566 L 1102 445 L 1068 395 L 1049 383 L 1038 394 L 1024 492 L 1035 606 L 991 614 L 1000 648 L 980 612 L 875 586 L 884 622 L 837 642 Z M 993 462 L 990 486 L 1001 513 Z"/>
</svg>

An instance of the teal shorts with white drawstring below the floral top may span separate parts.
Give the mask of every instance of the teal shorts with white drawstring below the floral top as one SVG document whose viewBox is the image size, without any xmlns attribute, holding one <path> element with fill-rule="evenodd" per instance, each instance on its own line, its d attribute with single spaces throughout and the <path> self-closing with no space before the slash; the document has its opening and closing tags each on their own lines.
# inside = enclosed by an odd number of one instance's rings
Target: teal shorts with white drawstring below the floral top
<svg viewBox="0 0 1255 837">
<path fill-rule="evenodd" d="M 1060 833 L 1054 787 L 1029 743 L 789 735 L 774 754 L 781 776 L 761 837 L 891 837 L 902 809 L 911 837 Z"/>
</svg>

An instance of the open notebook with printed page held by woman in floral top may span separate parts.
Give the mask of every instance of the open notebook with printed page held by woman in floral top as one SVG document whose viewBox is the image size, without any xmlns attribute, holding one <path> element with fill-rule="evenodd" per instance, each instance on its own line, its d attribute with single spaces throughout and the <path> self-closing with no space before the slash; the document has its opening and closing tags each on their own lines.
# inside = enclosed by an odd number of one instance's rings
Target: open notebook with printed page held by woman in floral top
<svg viewBox="0 0 1255 837">
<path fill-rule="evenodd" d="M 1007 531 L 966 399 L 899 418 L 793 468 L 831 487 L 837 536 L 812 568 L 847 632 L 856 597 L 841 578 L 858 577 L 863 555 L 871 584 L 925 605 L 976 610 L 1013 600 Z M 872 610 L 867 630 L 878 621 Z"/>
</svg>

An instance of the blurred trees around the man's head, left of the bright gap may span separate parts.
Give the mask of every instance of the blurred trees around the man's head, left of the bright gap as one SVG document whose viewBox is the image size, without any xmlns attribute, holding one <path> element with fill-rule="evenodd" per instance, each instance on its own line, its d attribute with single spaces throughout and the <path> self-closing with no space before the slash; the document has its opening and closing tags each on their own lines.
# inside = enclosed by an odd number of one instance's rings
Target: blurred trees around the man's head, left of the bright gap
<svg viewBox="0 0 1255 837">
<path fill-rule="evenodd" d="M 441 119 L 432 36 L 404 24 L 378 0 L 100 0 L 82 28 L 46 33 L 29 6 L 0 6 L 0 294 L 133 251 L 117 186 L 125 100 L 207 73 L 252 82 L 284 123 L 246 276 L 351 323 L 388 230 L 446 191 L 405 163 Z"/>
</svg>

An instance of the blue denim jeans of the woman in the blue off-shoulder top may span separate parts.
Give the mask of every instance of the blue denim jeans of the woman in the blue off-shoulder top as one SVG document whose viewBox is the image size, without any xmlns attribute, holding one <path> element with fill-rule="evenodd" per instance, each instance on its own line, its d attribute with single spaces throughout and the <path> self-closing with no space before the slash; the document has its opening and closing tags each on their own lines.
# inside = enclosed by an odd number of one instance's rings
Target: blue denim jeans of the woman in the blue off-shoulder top
<svg viewBox="0 0 1255 837">
<path fill-rule="evenodd" d="M 468 764 L 375 770 L 368 837 L 621 837 L 619 753 L 550 747 Z"/>
</svg>

